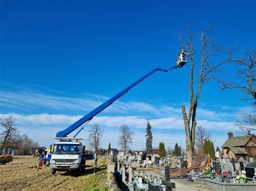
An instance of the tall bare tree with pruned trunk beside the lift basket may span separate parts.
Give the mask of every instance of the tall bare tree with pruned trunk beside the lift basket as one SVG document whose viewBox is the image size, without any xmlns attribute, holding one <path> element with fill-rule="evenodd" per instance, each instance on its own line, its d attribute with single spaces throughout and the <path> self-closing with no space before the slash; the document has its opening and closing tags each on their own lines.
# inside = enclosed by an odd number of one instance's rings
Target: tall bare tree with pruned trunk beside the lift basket
<svg viewBox="0 0 256 191">
<path fill-rule="evenodd" d="M 195 40 L 196 34 L 192 30 L 192 23 L 187 24 L 184 27 L 183 31 L 185 34 L 181 34 L 176 30 L 176 35 L 181 41 L 182 47 L 187 51 L 189 60 L 190 60 L 190 106 L 188 113 L 186 112 L 185 105 L 182 105 L 182 114 L 185 124 L 186 132 L 186 154 L 188 167 L 190 167 L 193 160 L 194 145 L 196 142 L 196 111 L 199 103 L 199 97 L 201 93 L 201 88 L 204 83 L 209 82 L 211 79 L 215 79 L 214 74 L 217 72 L 223 71 L 223 66 L 227 63 L 233 62 L 232 49 L 227 49 L 227 52 L 224 52 L 224 49 L 213 40 L 213 25 L 209 25 L 205 30 L 199 31 L 199 41 L 200 41 L 200 62 L 196 63 L 195 56 Z M 185 38 L 185 37 L 187 38 Z M 224 55 L 224 59 L 220 59 L 220 55 Z M 194 75 L 196 69 L 199 70 L 198 77 L 195 80 Z"/>
</svg>

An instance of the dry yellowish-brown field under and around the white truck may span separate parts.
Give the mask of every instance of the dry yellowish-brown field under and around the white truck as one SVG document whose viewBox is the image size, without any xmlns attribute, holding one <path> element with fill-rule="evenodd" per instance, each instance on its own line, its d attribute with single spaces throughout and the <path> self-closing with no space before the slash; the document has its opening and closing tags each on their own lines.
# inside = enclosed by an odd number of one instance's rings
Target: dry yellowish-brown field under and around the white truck
<svg viewBox="0 0 256 191">
<path fill-rule="evenodd" d="M 98 172 L 93 174 L 92 160 L 86 161 L 84 173 L 59 172 L 51 174 L 43 165 L 37 170 L 37 158 L 17 157 L 6 165 L 0 165 L 0 190 L 108 190 L 105 159 L 98 161 Z"/>
</svg>

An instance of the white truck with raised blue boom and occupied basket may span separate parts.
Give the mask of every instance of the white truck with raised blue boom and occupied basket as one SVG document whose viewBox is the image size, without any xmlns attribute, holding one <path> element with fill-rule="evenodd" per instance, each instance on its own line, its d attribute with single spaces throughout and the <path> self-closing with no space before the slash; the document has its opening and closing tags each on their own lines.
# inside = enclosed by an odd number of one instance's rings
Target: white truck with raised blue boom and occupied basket
<svg viewBox="0 0 256 191">
<path fill-rule="evenodd" d="M 77 122 L 73 123 L 65 130 L 57 132 L 55 139 L 59 140 L 59 142 L 51 145 L 48 150 L 48 154 L 51 154 L 50 168 L 52 169 L 52 174 L 55 174 L 56 171 L 68 171 L 69 169 L 79 169 L 79 171 L 84 171 L 85 160 L 93 158 L 89 155 L 86 156 L 86 154 L 84 153 L 85 146 L 82 145 L 82 143 L 79 143 L 79 140 L 81 140 L 81 138 L 75 138 L 78 133 L 83 130 L 84 126 L 89 123 L 94 116 L 99 114 L 99 112 L 109 107 L 114 101 L 125 95 L 130 89 L 137 86 L 140 82 L 145 80 L 153 73 L 157 71 L 170 72 L 172 69 L 183 67 L 186 63 L 186 53 L 184 49 L 182 49 L 176 60 L 176 65 L 174 65 L 173 67 L 169 69 L 154 68 L 151 72 L 147 73 L 142 78 L 132 83 L 124 90 L 120 91 L 117 95 L 114 95 L 109 100 L 99 105 L 96 109 L 93 109 L 91 112 L 80 118 Z M 76 133 L 73 138 L 67 137 L 71 132 L 75 131 L 83 124 L 85 125 Z M 72 140 L 75 140 L 75 142 L 72 142 Z"/>
</svg>

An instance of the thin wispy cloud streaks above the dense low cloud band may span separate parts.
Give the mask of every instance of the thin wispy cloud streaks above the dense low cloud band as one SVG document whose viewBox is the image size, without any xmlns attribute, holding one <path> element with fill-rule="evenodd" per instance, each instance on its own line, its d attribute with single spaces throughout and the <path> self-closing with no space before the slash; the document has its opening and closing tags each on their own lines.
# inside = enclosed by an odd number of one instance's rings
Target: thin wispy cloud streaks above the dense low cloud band
<svg viewBox="0 0 256 191">
<path fill-rule="evenodd" d="M 0 105 L 3 108 L 11 108 L 14 110 L 18 108 L 21 111 L 30 111 L 45 109 L 51 110 L 53 113 L 59 113 L 63 111 L 70 112 L 89 112 L 100 104 L 104 103 L 108 97 L 95 94 L 84 94 L 84 98 L 80 97 L 65 97 L 63 94 L 61 96 L 51 95 L 48 93 L 42 93 L 42 91 L 30 90 L 28 87 L 18 88 L 16 91 L 1 90 L 0 94 Z M 179 105 L 179 104 L 178 104 Z M 181 104 L 180 104 L 181 105 Z M 240 108 L 241 109 L 241 108 Z M 38 111 L 37 111 L 38 112 Z M 145 102 L 114 102 L 111 107 L 106 108 L 104 113 L 114 114 L 114 115 L 132 115 L 132 116 L 151 116 L 151 118 L 164 118 L 164 117 L 176 117 L 180 118 L 181 108 L 171 107 L 168 104 L 149 104 Z M 231 118 L 237 118 L 237 110 L 230 109 L 230 112 L 213 111 L 210 109 L 198 108 L 197 118 L 198 119 L 208 119 L 215 121 L 226 121 Z M 149 119 L 147 119 L 149 120 Z"/>
</svg>

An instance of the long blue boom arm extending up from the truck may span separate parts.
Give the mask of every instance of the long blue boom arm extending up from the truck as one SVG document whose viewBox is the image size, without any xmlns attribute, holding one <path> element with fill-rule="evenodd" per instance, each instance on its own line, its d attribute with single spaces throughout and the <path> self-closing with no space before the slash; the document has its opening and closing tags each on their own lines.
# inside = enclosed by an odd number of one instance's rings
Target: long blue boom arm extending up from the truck
<svg viewBox="0 0 256 191">
<path fill-rule="evenodd" d="M 137 86 L 140 82 L 142 82 L 143 80 L 145 80 L 147 77 L 149 77 L 150 75 L 152 75 L 153 73 L 157 72 L 157 71 L 162 71 L 162 72 L 170 72 L 170 70 L 172 69 L 176 69 L 177 67 L 181 67 L 181 66 L 173 66 L 169 69 L 163 69 L 163 68 L 155 68 L 153 69 L 150 73 L 144 75 L 142 78 L 140 78 L 139 80 L 137 80 L 136 82 L 134 82 L 133 84 L 131 84 L 130 86 L 128 86 L 127 88 L 125 88 L 124 90 L 120 91 L 117 95 L 113 96 L 112 98 L 110 98 L 109 100 L 107 100 L 106 102 L 104 102 L 103 104 L 99 105 L 99 107 L 97 107 L 96 109 L 92 110 L 91 112 L 89 112 L 89 114 L 85 115 L 84 117 L 80 118 L 77 122 L 75 122 L 74 124 L 70 125 L 68 128 L 66 128 L 63 131 L 59 131 L 56 134 L 56 137 L 66 137 L 68 136 L 71 132 L 73 132 L 74 130 L 76 130 L 77 128 L 79 128 L 79 126 L 83 125 L 86 122 L 89 122 L 94 116 L 96 116 L 99 112 L 103 111 L 104 109 L 106 109 L 107 107 L 109 107 L 114 101 L 116 101 L 118 98 L 122 97 L 124 94 L 126 94 L 130 89 L 132 89 L 134 86 Z M 83 129 L 83 128 L 82 128 Z M 77 134 L 82 130 L 80 129 Z M 74 136 L 76 137 L 77 134 Z"/>
</svg>

